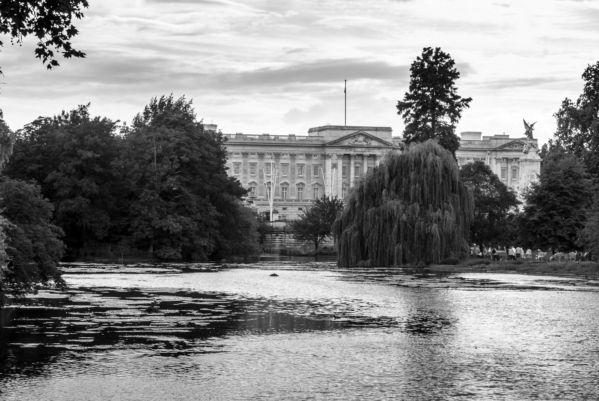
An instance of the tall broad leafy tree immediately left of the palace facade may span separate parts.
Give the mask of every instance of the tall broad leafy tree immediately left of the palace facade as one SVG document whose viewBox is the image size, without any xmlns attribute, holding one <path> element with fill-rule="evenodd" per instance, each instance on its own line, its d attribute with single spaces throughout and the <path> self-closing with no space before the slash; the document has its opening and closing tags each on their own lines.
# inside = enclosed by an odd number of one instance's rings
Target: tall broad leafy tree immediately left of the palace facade
<svg viewBox="0 0 599 401">
<path fill-rule="evenodd" d="M 219 243 L 235 242 L 227 233 L 239 233 L 228 224 L 243 217 L 235 213 L 243 215 L 238 203 L 247 191 L 226 174 L 224 142 L 222 134 L 204 130 L 184 97 L 153 98 L 135 117 L 125 135 L 122 165 L 130 231 L 148 252 L 202 260 Z M 251 235 L 252 225 L 245 228 Z"/>
</svg>

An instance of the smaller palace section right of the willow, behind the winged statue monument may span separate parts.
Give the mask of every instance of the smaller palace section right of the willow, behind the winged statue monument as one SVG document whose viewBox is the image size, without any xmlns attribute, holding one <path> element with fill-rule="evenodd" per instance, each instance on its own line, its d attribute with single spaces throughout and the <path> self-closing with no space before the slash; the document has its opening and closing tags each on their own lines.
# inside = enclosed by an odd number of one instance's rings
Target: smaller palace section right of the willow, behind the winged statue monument
<svg viewBox="0 0 599 401">
<path fill-rule="evenodd" d="M 485 162 L 522 200 L 524 191 L 537 180 L 541 171 L 538 140 L 510 138 L 509 135 L 482 136 L 482 132 L 462 132 L 460 135 L 460 147 L 456 152 L 458 165 L 476 160 Z"/>
</svg>

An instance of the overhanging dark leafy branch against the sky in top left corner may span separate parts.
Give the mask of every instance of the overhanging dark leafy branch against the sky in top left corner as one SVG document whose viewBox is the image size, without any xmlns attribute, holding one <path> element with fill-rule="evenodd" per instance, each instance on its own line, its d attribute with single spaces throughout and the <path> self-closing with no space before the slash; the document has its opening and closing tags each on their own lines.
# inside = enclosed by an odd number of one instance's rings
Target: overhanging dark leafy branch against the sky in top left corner
<svg viewBox="0 0 599 401">
<path fill-rule="evenodd" d="M 35 57 L 47 63 L 48 69 L 58 67 L 52 49 L 62 49 L 64 58 L 85 57 L 85 53 L 73 49 L 69 40 L 78 34 L 72 18 L 81 19 L 82 9 L 87 7 L 86 0 L 2 0 L 0 34 L 10 35 L 11 42 L 17 38 L 17 43 L 22 43 L 27 35 L 34 35 L 38 38 Z M 0 46 L 4 46 L 1 41 Z"/>
</svg>

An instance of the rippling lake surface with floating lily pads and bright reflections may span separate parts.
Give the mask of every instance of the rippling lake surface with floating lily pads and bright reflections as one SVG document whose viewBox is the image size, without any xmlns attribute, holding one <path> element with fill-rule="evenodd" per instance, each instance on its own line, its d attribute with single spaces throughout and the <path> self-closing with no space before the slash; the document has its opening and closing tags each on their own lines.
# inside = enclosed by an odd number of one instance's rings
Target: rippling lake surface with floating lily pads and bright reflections
<svg viewBox="0 0 599 401">
<path fill-rule="evenodd" d="M 8 400 L 596 399 L 596 281 L 68 264 L 0 313 Z M 277 272 L 278 277 L 270 274 Z M 158 301 L 160 311 L 146 308 Z"/>
</svg>

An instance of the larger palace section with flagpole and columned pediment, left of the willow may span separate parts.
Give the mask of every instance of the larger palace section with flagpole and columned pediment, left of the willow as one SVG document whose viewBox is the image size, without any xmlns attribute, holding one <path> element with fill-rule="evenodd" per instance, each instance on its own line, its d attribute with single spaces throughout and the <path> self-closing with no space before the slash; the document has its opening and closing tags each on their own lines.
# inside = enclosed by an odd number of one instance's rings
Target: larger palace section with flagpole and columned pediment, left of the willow
<svg viewBox="0 0 599 401">
<path fill-rule="evenodd" d="M 356 178 L 400 149 L 400 138 L 385 126 L 325 125 L 308 129 L 307 135 L 226 136 L 229 175 L 250 189 L 259 213 L 270 211 L 268 194 L 274 191 L 274 220 L 297 219 L 323 195 L 344 198 Z"/>
</svg>

